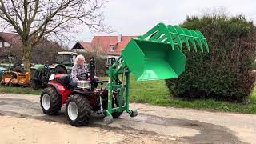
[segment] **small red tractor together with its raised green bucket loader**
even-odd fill
[[[71,88],[70,76],[57,74],[50,77],[42,91],[40,102],[44,114],[58,114],[66,104],[66,118],[73,126],[89,123],[90,115],[105,114],[106,123],[113,122],[123,111],[135,117],[136,110],[130,110],[130,74],[137,81],[178,78],[185,70],[186,58],[182,46],[190,50],[209,52],[206,38],[201,32],[178,26],[159,23],[146,34],[132,38],[122,50],[121,56],[106,70],[109,79],[99,81],[94,77],[94,58],[90,58],[90,77]],[[97,88],[98,84],[106,86]]]

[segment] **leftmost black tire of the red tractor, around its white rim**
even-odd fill
[[[47,96],[47,95],[50,97],[50,107],[49,107],[49,109],[46,109],[43,106],[43,97]],[[50,87],[47,87],[46,89],[42,90],[42,94],[41,94],[41,97],[40,97],[40,105],[41,105],[41,109],[42,109],[44,114],[55,115],[55,114],[58,114],[58,112],[62,108],[62,98],[57,93],[55,88],[50,86]]]

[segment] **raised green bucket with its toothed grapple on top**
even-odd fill
[[[182,46],[209,51],[202,33],[159,23],[148,33],[130,40],[122,58],[138,81],[178,78],[185,70],[186,57]]]

